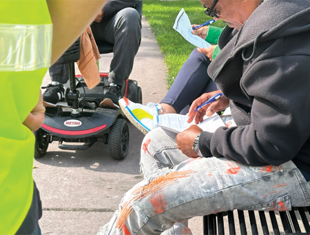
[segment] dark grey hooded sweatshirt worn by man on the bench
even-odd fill
[[[208,74],[238,127],[203,132],[204,156],[254,166],[293,160],[310,173],[309,16],[309,0],[267,0],[239,32],[225,28]]]

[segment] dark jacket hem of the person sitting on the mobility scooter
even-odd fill
[[[105,21],[105,19],[110,19],[114,16],[117,12],[120,10],[123,10],[124,8],[133,8],[136,3],[138,3],[139,0],[109,0],[107,3],[105,3],[105,6],[103,7],[103,10],[105,11],[105,18],[103,18],[102,21]]]

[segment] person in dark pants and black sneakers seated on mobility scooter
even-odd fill
[[[110,73],[107,85],[103,92],[102,100],[112,99],[118,104],[121,90],[125,88],[134,65],[134,57],[138,52],[141,40],[141,19],[133,8],[138,0],[109,0],[101,13],[92,23],[92,33],[96,40],[107,41],[114,44],[114,56],[110,64]],[[69,79],[68,65],[58,61],[50,68],[52,83],[43,93],[43,100],[49,103],[63,101],[63,84]]]

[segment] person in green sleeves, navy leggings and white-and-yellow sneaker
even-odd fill
[[[192,28],[196,26],[192,25]],[[222,31],[223,28],[206,25],[192,30],[192,33],[209,43],[216,44]],[[219,52],[218,45],[211,45],[209,48],[195,48],[180,68],[172,87],[160,103],[141,105],[124,98],[118,101],[121,109],[143,134],[147,134],[156,127],[153,117],[158,114],[187,114],[189,106],[198,97],[206,93],[213,96],[220,92],[207,74],[209,63]],[[223,110],[227,106],[228,103],[223,106]]]

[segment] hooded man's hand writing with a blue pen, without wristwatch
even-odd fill
[[[229,99],[227,99],[225,96],[221,96],[216,101],[210,103],[209,105],[205,105],[203,106],[203,108],[200,108],[200,110],[194,112],[199,105],[205,103],[205,101],[209,100],[212,96],[218,93],[220,93],[220,90],[205,93],[196,100],[194,100],[191,107],[189,108],[189,118],[187,120],[187,123],[191,123],[195,119],[195,123],[197,124],[203,121],[203,116],[212,116],[215,112],[225,110],[225,108],[229,106]]]

